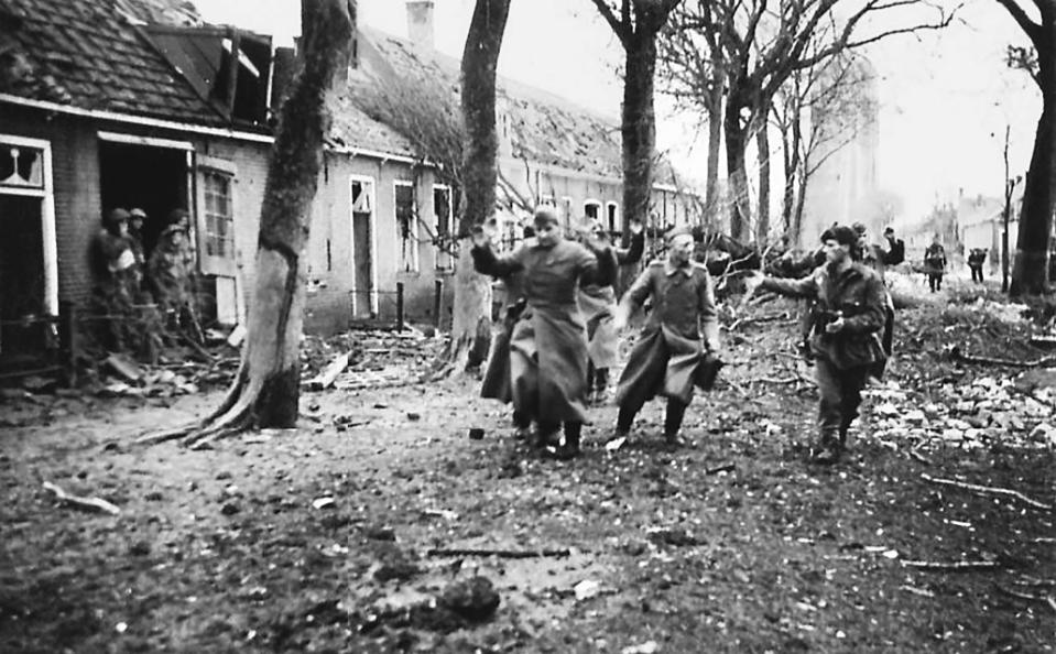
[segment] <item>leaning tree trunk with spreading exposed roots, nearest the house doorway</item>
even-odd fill
[[[330,113],[326,95],[347,65],[355,24],[348,0],[302,0],[304,58],[282,106],[268,167],[242,363],[221,405],[189,427],[152,440],[188,435],[188,444],[251,427],[293,427],[301,388],[308,216],[323,166]]]

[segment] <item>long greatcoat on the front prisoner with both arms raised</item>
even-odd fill
[[[477,272],[520,274],[525,306],[510,335],[513,406],[547,423],[585,422],[586,324],[576,295],[580,283],[611,284],[611,257],[560,240],[543,247],[527,239],[511,254],[473,248]]]

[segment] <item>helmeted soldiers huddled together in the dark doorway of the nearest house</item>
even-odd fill
[[[91,240],[91,314],[95,334],[109,350],[143,350],[156,345],[153,339],[164,330],[198,329],[188,214],[170,212],[149,257],[143,247],[146,219],[139,208],[111,209]]]

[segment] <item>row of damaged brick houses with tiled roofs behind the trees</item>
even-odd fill
[[[410,40],[357,26],[334,99],[311,217],[309,330],[392,318],[398,284],[409,318],[435,320],[435,282],[453,272],[443,237],[457,193],[358,102],[366,79],[410,70],[457,88],[458,62],[431,47],[433,2],[407,9]],[[113,207],[146,211],[148,253],[165,216],[187,209],[209,313],[241,321],[274,117],[296,65],[292,48],[207,24],[183,0],[0,0],[0,325],[87,303],[89,243]],[[507,190],[618,231],[618,122],[510,80],[499,107]],[[657,220],[689,219],[695,197],[666,182]]]

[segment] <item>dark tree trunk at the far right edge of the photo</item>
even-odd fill
[[[1053,233],[1053,184],[1056,182],[1056,35],[1047,30],[1046,47],[1038,47],[1042,116],[1034,137],[1034,153],[1026,172],[1023,211],[1015,244],[1009,294],[1044,293],[1048,288],[1048,246]]]

